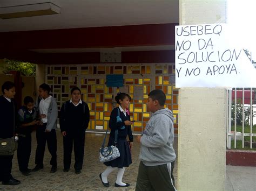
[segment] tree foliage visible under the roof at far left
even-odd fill
[[[1,67],[4,74],[9,74],[10,71],[19,71],[23,76],[36,75],[35,63],[4,59],[4,63]]]

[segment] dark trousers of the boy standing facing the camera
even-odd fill
[[[83,168],[84,161],[84,142],[85,142],[85,132],[67,132],[66,136],[63,137],[63,151],[64,158],[63,164],[65,169],[70,168],[71,156],[74,144],[74,153],[75,153],[75,165],[76,170]]]

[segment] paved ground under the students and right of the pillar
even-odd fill
[[[12,175],[14,178],[21,180],[22,183],[17,186],[4,186],[0,183],[0,190],[134,190],[138,174],[139,165],[139,144],[133,144],[132,160],[130,167],[126,168],[124,174],[124,182],[129,182],[130,187],[116,188],[114,181],[116,173],[109,176],[110,187],[103,187],[99,179],[99,173],[103,172],[105,166],[98,160],[99,147],[102,144],[103,134],[100,133],[86,133],[85,139],[85,158],[82,173],[75,174],[74,169],[68,173],[63,172],[63,148],[62,137],[60,132],[57,132],[58,139],[58,171],[50,174],[51,166],[49,165],[50,154],[46,147],[44,158],[44,169],[32,173],[30,176],[24,176],[18,171],[17,156],[13,159]],[[174,148],[177,151],[177,138],[174,140]],[[30,158],[29,168],[33,168],[35,161],[36,139],[35,132],[32,133],[32,153]],[[73,159],[72,164],[73,166]],[[233,167],[227,166],[227,180],[225,190],[256,190],[256,167]],[[177,166],[174,168],[174,177],[177,180]],[[145,190],[146,191],[146,190]]]

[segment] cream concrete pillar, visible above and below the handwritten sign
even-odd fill
[[[180,0],[180,25],[226,23],[226,0]],[[178,190],[224,190],[227,90],[179,89]]]

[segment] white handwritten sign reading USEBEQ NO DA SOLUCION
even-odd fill
[[[226,24],[175,27],[177,88],[256,87],[256,69],[231,32]]]

